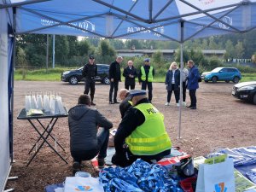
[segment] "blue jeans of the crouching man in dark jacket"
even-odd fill
[[[97,132],[98,147],[91,150],[71,151],[73,160],[81,163],[82,160],[92,160],[98,154],[98,159],[107,157],[109,130],[100,128]]]

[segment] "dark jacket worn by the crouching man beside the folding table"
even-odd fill
[[[68,111],[68,126],[70,132],[70,150],[98,149],[97,126],[110,129],[113,124],[96,108],[77,105]]]

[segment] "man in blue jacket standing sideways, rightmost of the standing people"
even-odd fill
[[[191,104],[188,106],[190,109],[196,109],[196,95],[195,92],[199,88],[198,79],[200,79],[200,73],[198,68],[195,67],[195,63],[192,60],[189,60],[187,63],[189,67],[189,76],[188,76],[188,87],[189,96]]]

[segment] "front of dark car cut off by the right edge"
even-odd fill
[[[232,89],[232,96],[256,105],[256,81],[235,84]]]

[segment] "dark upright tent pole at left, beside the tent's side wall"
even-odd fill
[[[12,110],[12,118],[11,118],[11,141],[10,141],[10,159],[11,163],[14,163],[14,97],[15,97],[15,65],[16,65],[16,8],[13,8],[13,32],[14,32],[14,44],[13,44],[13,65],[12,65],[12,98],[11,98],[11,110]]]

